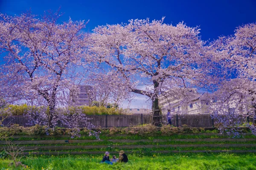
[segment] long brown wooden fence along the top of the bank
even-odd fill
[[[166,115],[163,115],[162,120],[167,124]],[[151,123],[152,115],[136,114],[136,115],[87,115],[88,122],[96,127],[130,127],[142,126]],[[72,119],[72,117],[70,117]],[[239,116],[241,125],[253,123],[252,116]],[[0,116],[2,121],[1,126],[10,126],[17,124],[24,127],[34,126],[37,120],[36,116]],[[47,119],[41,120],[47,124]],[[171,124],[173,126],[188,125],[192,127],[214,127],[215,120],[209,114],[175,114],[171,116]],[[57,122],[57,127],[67,127],[61,121]],[[79,122],[79,127],[86,127],[86,122]]]

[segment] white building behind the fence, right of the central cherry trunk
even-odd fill
[[[163,114],[166,114],[168,110],[172,114],[209,114],[210,106],[212,106],[212,110],[216,109],[219,114],[227,111],[247,114],[252,105],[250,99],[246,103],[239,103],[239,100],[234,96],[229,99],[229,102],[226,102],[226,100],[222,101],[224,99],[217,99],[214,95],[198,93],[192,89],[186,93],[186,96],[189,96],[186,99],[182,95],[160,96],[159,105]]]

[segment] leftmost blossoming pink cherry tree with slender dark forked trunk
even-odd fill
[[[6,102],[26,99],[49,107],[49,127],[55,109],[67,105],[68,89],[81,78],[87,34],[84,21],[60,22],[59,11],[38,16],[0,14],[0,93]]]

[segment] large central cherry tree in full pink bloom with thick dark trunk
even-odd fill
[[[108,66],[108,72],[122,76],[128,91],[152,100],[156,124],[163,87],[187,88],[198,83],[204,53],[199,28],[184,23],[172,26],[163,19],[98,26],[91,35],[90,47],[94,59],[104,68]],[[149,85],[153,90],[140,90],[138,85]]]

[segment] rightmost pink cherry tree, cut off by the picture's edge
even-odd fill
[[[237,106],[246,106],[247,116],[256,111],[256,24],[240,26],[235,30],[234,35],[219,37],[218,40],[210,43],[208,50],[218,63],[220,75],[223,77],[218,84],[219,90],[216,96],[221,96],[224,102],[233,102],[232,105],[235,108],[233,112],[230,112],[228,105],[223,105],[222,102],[213,110],[216,111],[218,108],[218,112],[226,112],[226,115],[231,116],[232,119],[226,122],[219,119],[224,126],[227,127],[230,122],[235,123],[232,128],[241,125],[241,122],[236,122],[236,118],[232,117],[232,115],[241,116],[239,109],[236,109]],[[255,127],[249,126],[255,133]]]

